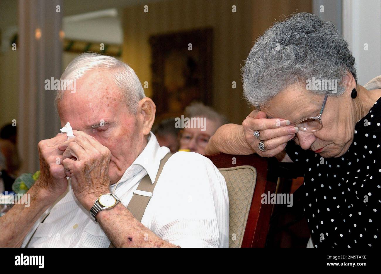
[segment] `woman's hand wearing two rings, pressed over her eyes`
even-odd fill
[[[243,120],[242,126],[248,146],[263,157],[280,154],[298,132],[298,128],[291,126],[289,120],[268,119],[266,113],[258,110],[252,111]],[[259,139],[254,136],[254,131],[259,131]],[[263,141],[265,151],[259,149],[260,141]]]

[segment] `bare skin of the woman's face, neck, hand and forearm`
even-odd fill
[[[211,137],[206,153],[258,153],[290,162],[285,147],[296,134],[295,142],[301,148],[318,151],[322,157],[340,157],[351,146],[355,124],[381,97],[381,89],[368,91],[362,86],[357,87],[349,72],[343,79],[343,85],[343,94],[328,96],[321,117],[323,127],[319,131],[304,132],[295,128],[300,119],[319,115],[325,97],[306,90],[305,84],[298,83],[282,90],[261,111],[252,111],[242,126],[227,124],[220,127]],[[351,92],[356,87],[358,95],[353,99]],[[260,132],[259,140],[253,136],[255,130]],[[264,152],[258,148],[260,140],[264,141]]]

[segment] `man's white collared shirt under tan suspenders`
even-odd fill
[[[151,132],[147,146],[127,168],[114,192],[124,206],[130,202],[142,177],[148,174],[151,181],[155,180],[160,160],[167,153],[169,149],[160,147]],[[114,188],[115,184],[111,185],[111,191]],[[175,153],[160,174],[141,222],[174,245],[228,247],[229,199],[224,177],[200,154]],[[69,184],[69,192],[40,217],[22,247],[108,247],[109,244],[106,233],[78,202]]]

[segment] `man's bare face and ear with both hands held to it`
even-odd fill
[[[66,141],[66,134],[59,134],[39,143],[40,184],[59,194],[69,176],[78,200],[92,206],[101,193],[110,192],[110,184],[123,176],[146,146],[155,105],[144,98],[133,114],[112,76],[97,69],[77,80],[75,93],[64,92],[58,113],[61,126],[70,122],[76,137]],[[57,157],[62,164],[56,164]]]

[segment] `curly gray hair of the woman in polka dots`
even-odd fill
[[[338,96],[344,93],[341,82],[347,71],[357,83],[354,64],[348,43],[333,23],[315,14],[297,13],[258,37],[243,67],[243,93],[251,105],[260,108],[287,86],[314,77],[337,79],[338,89],[337,93],[312,92]]]

